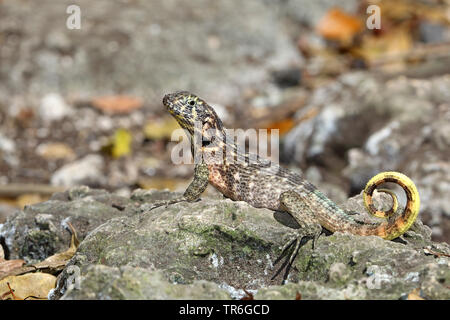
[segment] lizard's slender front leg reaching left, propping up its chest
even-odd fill
[[[168,206],[171,204],[175,204],[178,202],[194,202],[197,199],[200,198],[200,195],[205,191],[206,187],[208,186],[208,177],[209,177],[209,170],[208,166],[205,163],[200,163],[195,165],[194,169],[194,179],[187,187],[186,191],[184,192],[183,196],[172,199],[172,200],[166,200],[154,203],[148,208],[147,210],[153,210],[155,208],[161,207],[161,206]],[[146,210],[146,211],[147,211]]]

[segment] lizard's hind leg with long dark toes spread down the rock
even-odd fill
[[[300,225],[300,228],[296,230],[294,237],[286,242],[280,256],[275,260],[276,265],[287,254],[287,258],[281,267],[272,277],[272,280],[286,268],[283,283],[286,281],[292,264],[297,257],[300,248],[306,244],[309,240],[313,240],[313,249],[316,240],[322,233],[322,226],[315,217],[315,213],[308,205],[307,198],[299,195],[295,191],[286,191],[280,195],[281,209],[288,212],[295,221]],[[291,250],[293,248],[293,250]],[[288,253],[290,251],[290,253]]]

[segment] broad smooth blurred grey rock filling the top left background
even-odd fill
[[[66,28],[73,1],[23,4],[0,10],[0,81],[12,94],[120,91],[159,103],[188,89],[227,104],[242,87],[269,83],[273,68],[301,63],[275,3],[81,0],[79,30]]]

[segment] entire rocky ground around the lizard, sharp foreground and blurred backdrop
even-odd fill
[[[71,222],[82,242],[53,299],[448,299],[448,4],[376,1],[382,28],[368,30],[372,2],[0,1],[5,258],[66,250]],[[74,3],[79,30],[66,27]],[[371,176],[405,173],[420,221],[399,241],[324,236],[279,286],[288,217],[213,188],[146,212],[192,177],[171,161],[178,125],[161,103],[180,89],[228,128],[279,129],[281,164],[362,214]]]

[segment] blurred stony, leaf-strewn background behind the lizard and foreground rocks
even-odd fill
[[[449,0],[0,0],[0,223],[74,185],[184,191],[162,97],[189,90],[338,203],[405,173],[450,242],[449,25]]]

